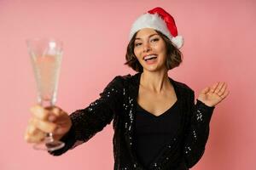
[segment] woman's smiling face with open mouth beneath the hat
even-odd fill
[[[143,66],[143,70],[166,69],[166,42],[154,29],[144,28],[137,32],[134,54]]]

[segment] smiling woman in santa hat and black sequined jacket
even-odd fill
[[[201,159],[207,144],[213,109],[228,94],[227,84],[194,91],[167,72],[182,62],[172,16],[154,8],[133,24],[126,65],[138,73],[117,76],[88,107],[70,116],[55,106],[31,108],[25,139],[38,143],[54,133],[65,147],[59,156],[88,141],[113,120],[114,169],[189,169]]]

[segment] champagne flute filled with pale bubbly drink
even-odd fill
[[[43,107],[55,105],[58,80],[61,70],[62,42],[54,38],[33,38],[26,40],[37,83],[38,104]],[[65,144],[47,133],[44,142],[34,144],[36,150],[58,150]]]

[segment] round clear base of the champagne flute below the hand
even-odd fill
[[[35,150],[48,150],[48,151],[54,151],[59,150],[65,146],[64,142],[61,142],[59,140],[48,140],[45,139],[44,142],[39,144],[34,144],[33,148]]]

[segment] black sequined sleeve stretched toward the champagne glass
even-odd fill
[[[113,116],[119,112],[122,105],[122,95],[120,94],[120,89],[123,89],[122,86],[122,77],[114,77],[113,81],[104,88],[99,99],[84,109],[74,111],[70,115],[72,127],[61,139],[65,142],[65,147],[60,150],[49,151],[49,153],[59,156],[102,131],[113,120]]]

